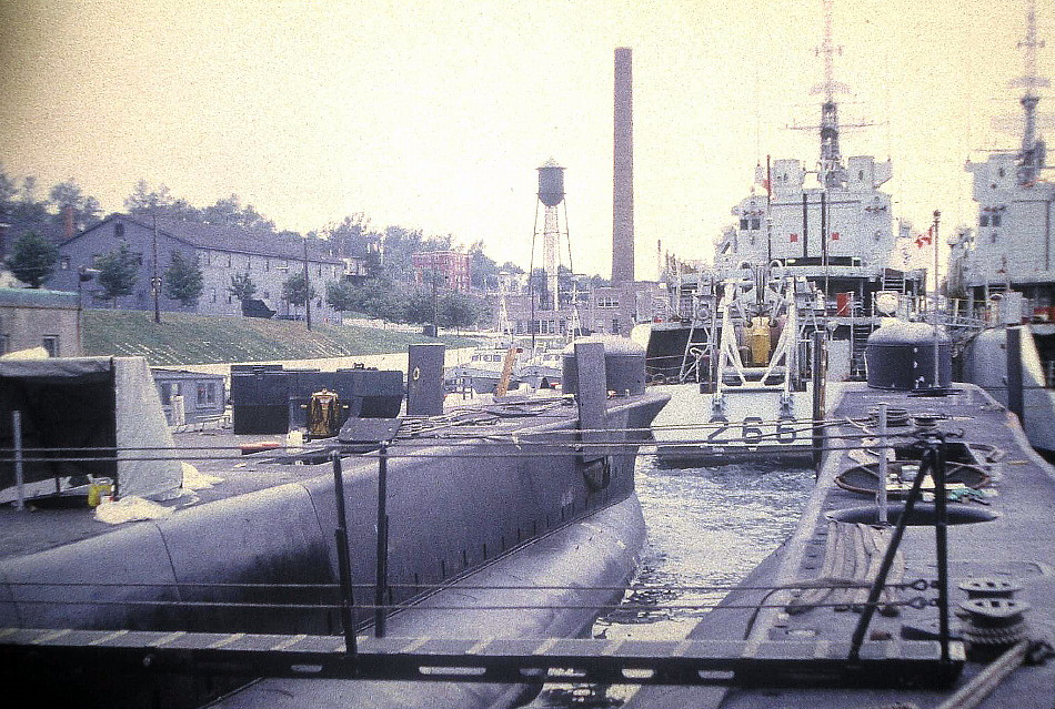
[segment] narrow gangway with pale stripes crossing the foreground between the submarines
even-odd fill
[[[0,677],[70,667],[174,675],[524,683],[941,687],[963,666],[936,640],[762,642],[574,638],[378,638],[134,630],[0,630]],[[958,644],[956,644],[958,647]]]

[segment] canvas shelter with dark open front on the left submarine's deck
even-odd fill
[[[4,500],[14,497],[13,456],[8,452],[14,444],[16,411],[29,459],[23,465],[28,496],[77,487],[89,475],[114,479],[121,496],[158,498],[180,487],[179,460],[143,459],[164,457],[164,450],[150,448],[174,448],[174,442],[142,357],[0,361],[0,448],[6,452],[0,499]]]

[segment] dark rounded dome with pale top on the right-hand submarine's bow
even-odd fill
[[[891,321],[868,336],[865,361],[868,386],[912,391],[946,387],[952,382],[953,346],[938,330],[938,381],[934,382],[934,327],[927,323]]]

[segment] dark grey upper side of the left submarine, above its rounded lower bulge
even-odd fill
[[[656,395],[622,399],[610,405],[606,425],[646,429],[665,401]],[[552,411],[532,423],[500,422],[488,433],[515,431],[521,440],[573,439],[574,409]],[[386,602],[424,598],[431,587],[512,558],[545,535],[633,495],[632,447],[609,456],[603,475],[596,464],[585,465],[566,448],[537,455],[530,450],[472,437],[443,446],[393,447]],[[350,457],[343,466],[352,579],[365,586],[356,590],[362,602],[374,597],[378,462],[375,456]],[[254,475],[295,480],[261,484],[239,494],[239,485]],[[0,627],[340,632],[339,597],[332,588],[338,579],[338,519],[331,466],[257,464],[232,473],[230,480],[227,493],[219,495],[234,496],[179,510],[168,519],[97,529],[89,538],[9,554],[0,560]],[[16,514],[4,510],[0,521],[17,524],[9,513]],[[630,556],[635,553],[631,549]],[[616,564],[620,569],[625,565],[625,559]],[[218,583],[234,586],[208,586]],[[569,583],[597,585],[599,579]],[[238,586],[245,584],[259,586]],[[328,587],[305,586],[311,584]],[[257,606],[233,608],[213,605],[217,601]],[[356,620],[366,624],[371,615],[361,611]],[[579,616],[582,624],[592,620],[590,612]],[[165,707],[195,706],[218,687],[204,678],[158,682],[132,677],[121,678],[121,691],[110,693],[108,682],[96,678],[77,682],[76,673],[61,677],[51,686],[69,688],[81,706],[118,706],[118,700],[142,706],[151,698]],[[40,679],[46,682],[47,672]]]

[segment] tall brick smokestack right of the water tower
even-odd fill
[[[633,55],[615,50],[615,140],[612,173],[612,282],[634,280],[634,95]]]

